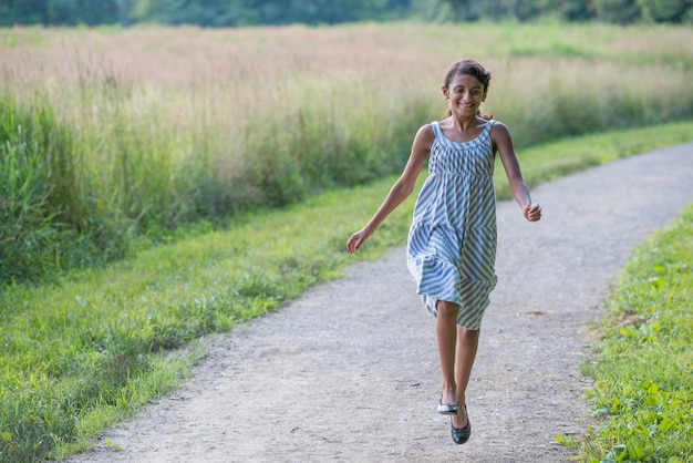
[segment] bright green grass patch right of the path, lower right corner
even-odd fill
[[[693,461],[693,205],[637,249],[599,332],[580,461]]]

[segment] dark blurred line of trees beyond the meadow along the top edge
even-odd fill
[[[693,23],[691,0],[0,0],[0,25],[244,27],[356,21]]]

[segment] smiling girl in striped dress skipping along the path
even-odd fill
[[[436,317],[443,383],[438,413],[451,415],[453,441],[464,444],[472,425],[465,392],[476,357],[482,317],[496,286],[496,197],[493,174],[500,155],[513,195],[529,222],[541,218],[520,172],[508,128],[479,106],[490,73],[459,60],[443,80],[447,117],[418,130],[404,172],[382,205],[346,243],[355,253],[406,197],[426,160],[428,177],[418,194],[407,240],[407,265],[416,294]],[[459,405],[458,405],[459,404]]]

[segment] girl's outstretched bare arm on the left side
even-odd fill
[[[361,230],[351,235],[346,241],[346,249],[350,254],[354,254],[373,235],[380,224],[412,194],[416,178],[418,178],[418,174],[426,163],[434,140],[435,134],[431,124],[424,125],[416,132],[414,143],[412,144],[412,153],[402,175],[392,185],[390,193],[387,193],[383,204],[371,220]]]

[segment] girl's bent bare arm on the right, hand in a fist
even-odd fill
[[[504,123],[496,122],[492,127],[490,138],[494,144],[494,150],[500,155],[500,162],[508,176],[513,196],[523,208],[523,215],[529,222],[541,219],[541,206],[531,202],[529,188],[527,188],[527,184],[523,178],[523,172],[520,171],[517,156],[515,155],[510,131]]]

